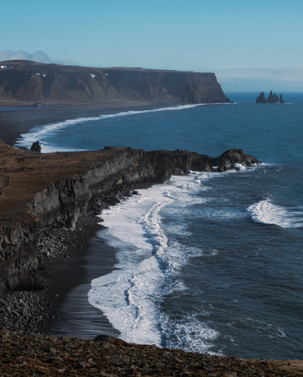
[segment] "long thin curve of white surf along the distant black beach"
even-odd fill
[[[213,104],[216,104],[216,103],[213,103]],[[111,119],[111,118],[117,118],[117,117],[127,116],[127,115],[136,115],[136,114],[152,113],[152,112],[167,111],[167,110],[186,110],[186,109],[191,109],[193,107],[206,106],[206,105],[210,105],[210,104],[200,103],[200,104],[191,104],[191,105],[178,105],[178,106],[163,107],[160,109],[152,109],[152,110],[125,111],[125,112],[120,112],[120,113],[99,115],[99,116],[88,117],[88,118],[71,119],[71,120],[66,120],[66,121],[58,122],[58,123],[49,123],[49,124],[46,124],[45,126],[34,127],[30,129],[29,132],[22,134],[21,135],[22,139],[18,140],[15,145],[30,148],[33,142],[39,140],[41,146],[43,146],[42,148],[43,153],[49,153],[53,151],[73,152],[80,149],[75,149],[72,147],[62,148],[62,147],[49,145],[47,144],[47,141],[45,140],[46,136],[50,133],[56,133],[64,127],[70,127],[70,126],[73,126],[74,124],[83,123],[87,121]],[[85,150],[85,149],[81,149],[81,150]]]

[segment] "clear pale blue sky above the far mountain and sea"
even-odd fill
[[[276,69],[268,83],[288,80],[280,68],[303,69],[302,0],[14,0],[1,14],[0,58],[21,50],[83,66],[221,70],[230,87],[256,81],[256,69],[261,81]]]

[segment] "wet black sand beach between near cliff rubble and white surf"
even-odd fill
[[[82,248],[67,251],[68,258],[54,257],[40,276],[47,288],[41,292],[52,304],[54,319],[46,319],[38,330],[45,334],[92,339],[98,334],[119,336],[102,312],[88,302],[91,280],[115,269],[116,250],[105,244],[102,225],[90,229]],[[45,266],[45,265],[43,265]],[[39,267],[38,267],[39,268]]]

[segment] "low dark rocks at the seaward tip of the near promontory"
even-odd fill
[[[192,156],[191,170],[195,172],[226,172],[227,170],[239,170],[240,166],[252,166],[260,164],[255,157],[245,155],[242,149],[228,149],[216,158],[208,155],[200,155],[190,152]]]

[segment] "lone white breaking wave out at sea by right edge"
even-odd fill
[[[303,226],[303,212],[297,209],[281,207],[265,199],[252,204],[247,208],[247,212],[254,222],[276,224],[283,228],[300,228]]]

